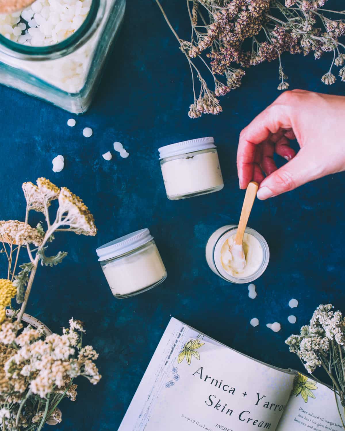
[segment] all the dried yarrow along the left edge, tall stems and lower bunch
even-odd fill
[[[82,322],[71,319],[63,335],[52,334],[46,327],[23,329],[22,318],[38,264],[57,265],[67,255],[59,252],[47,256],[47,244],[59,231],[76,234],[96,234],[94,218],[83,201],[66,187],[56,187],[46,178],[37,185],[22,185],[26,200],[25,221],[0,221],[2,252],[8,260],[7,278],[0,279],[0,430],[40,431],[47,422],[61,422],[57,408],[64,397],[75,400],[73,379],[85,376],[96,384],[100,375],[94,364],[98,354],[91,346],[82,347]],[[49,208],[53,200],[58,206],[54,219]],[[44,215],[46,228],[40,222],[29,225],[30,211]],[[51,221],[53,220],[53,221]],[[21,250],[26,250],[29,262],[20,265]],[[11,306],[16,296],[20,310]],[[6,318],[6,307],[9,317]],[[31,318],[33,319],[33,318]],[[30,320],[30,319],[29,319]],[[34,320],[34,319],[33,319]]]

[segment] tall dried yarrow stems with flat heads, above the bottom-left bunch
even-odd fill
[[[9,263],[7,280],[13,281],[13,286],[16,288],[17,303],[22,303],[18,313],[18,322],[21,321],[28,302],[38,263],[41,262],[41,265],[46,266],[57,265],[67,255],[66,252],[59,252],[55,256],[46,255],[47,243],[54,239],[54,233],[71,231],[76,234],[92,236],[97,233],[92,214],[78,196],[66,187],[60,189],[44,177],[38,178],[36,183],[37,185],[25,182],[22,185],[26,200],[25,222],[19,220],[0,221],[2,251],[6,253]],[[51,223],[49,207],[53,200],[58,200],[59,206],[56,210],[55,219]],[[28,219],[31,210],[44,214],[47,223],[46,230],[44,230],[42,223],[38,223],[36,228],[29,225]],[[32,248],[32,245],[35,248]],[[30,262],[20,265],[21,271],[16,274],[19,252],[22,247],[26,247]],[[4,317],[1,313],[0,301],[0,321]]]

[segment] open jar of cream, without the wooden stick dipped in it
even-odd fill
[[[212,271],[231,283],[250,283],[263,274],[270,260],[270,250],[264,237],[254,229],[246,228],[243,238],[245,268],[237,272],[232,267],[231,246],[235,240],[237,225],[217,229],[206,244],[206,260]]]

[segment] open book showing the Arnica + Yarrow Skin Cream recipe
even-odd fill
[[[119,431],[257,428],[343,429],[329,387],[242,355],[172,318]]]

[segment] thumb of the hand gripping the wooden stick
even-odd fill
[[[265,178],[257,191],[257,198],[265,200],[273,196],[294,190],[302,184],[321,176],[316,163],[302,148],[290,162]]]

